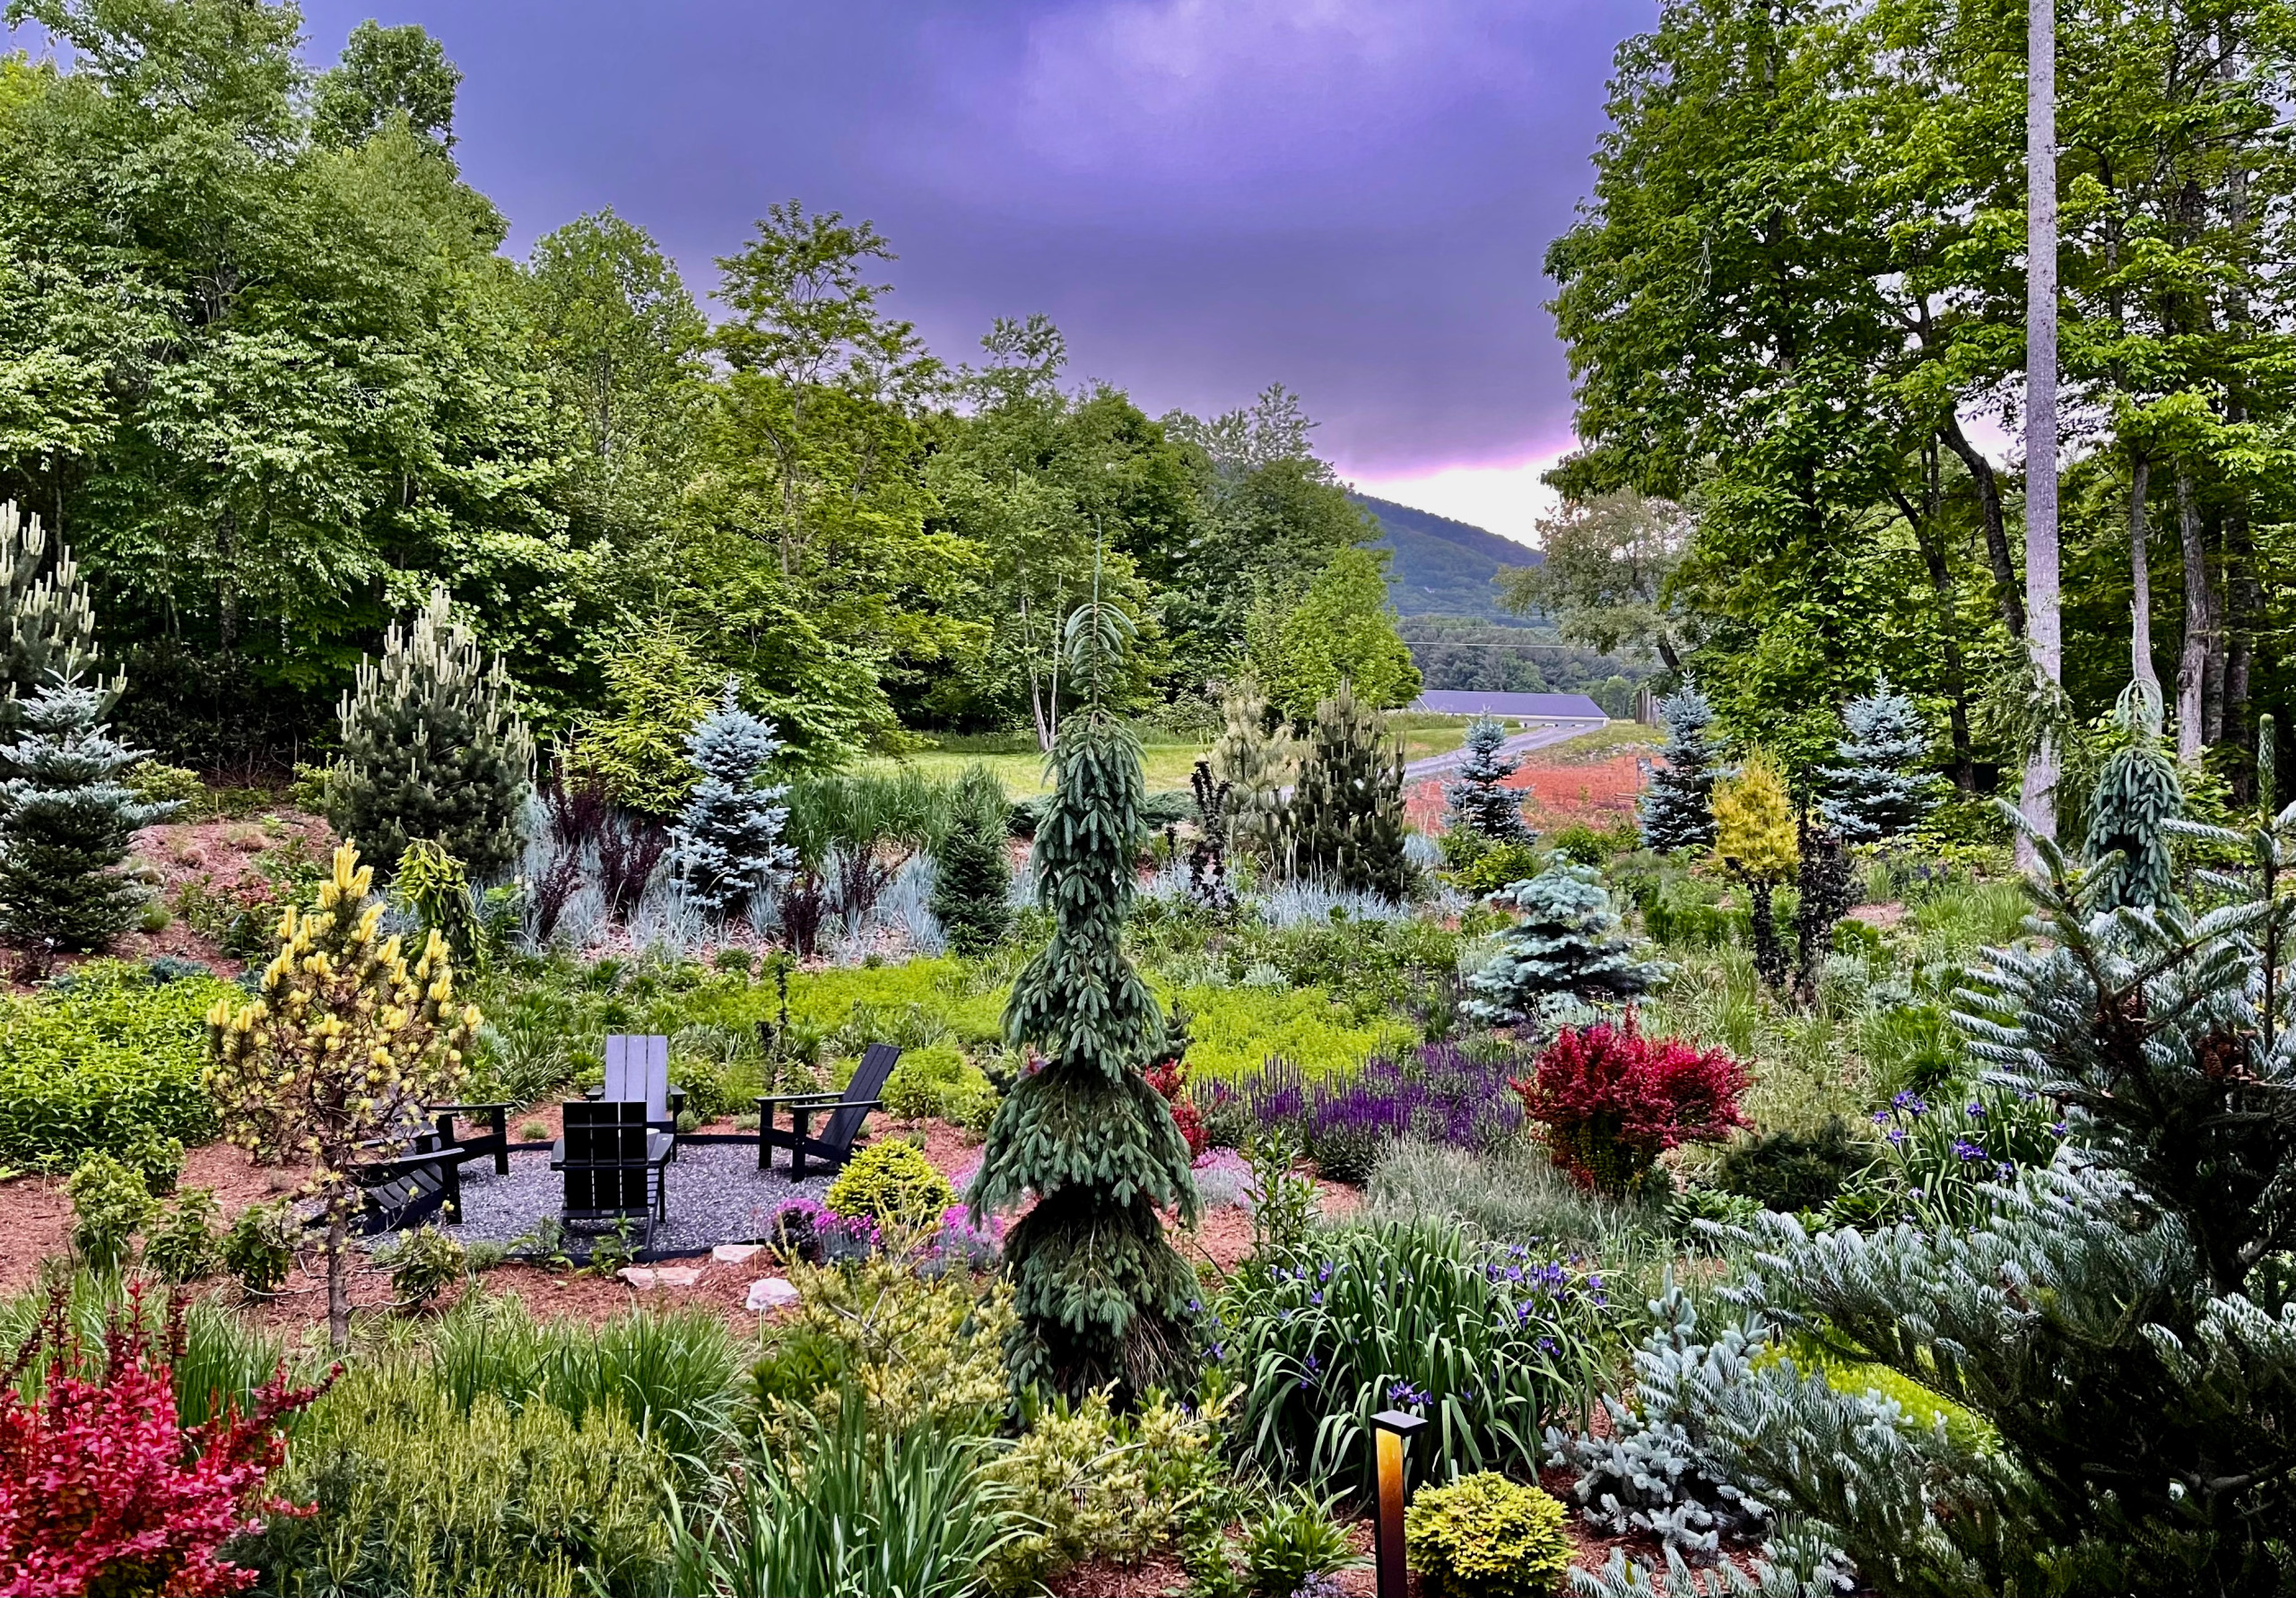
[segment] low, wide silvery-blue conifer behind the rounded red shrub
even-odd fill
[[[1495,895],[1522,914],[1499,955],[1467,978],[1467,1015],[1492,1026],[1538,1019],[1548,999],[1623,1003],[1665,973],[1635,960],[1600,877],[1584,866],[1550,866]]]

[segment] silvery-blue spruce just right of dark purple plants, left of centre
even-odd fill
[[[739,916],[794,861],[781,840],[788,788],[758,781],[778,753],[774,723],[742,709],[739,684],[728,677],[716,709],[687,737],[687,760],[700,781],[670,829],[687,902],[707,916]]]

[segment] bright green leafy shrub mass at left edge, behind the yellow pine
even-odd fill
[[[0,1164],[71,1166],[94,1148],[126,1153],[147,1132],[214,1139],[200,1086],[207,1010],[236,992],[92,960],[67,987],[0,999]]]

